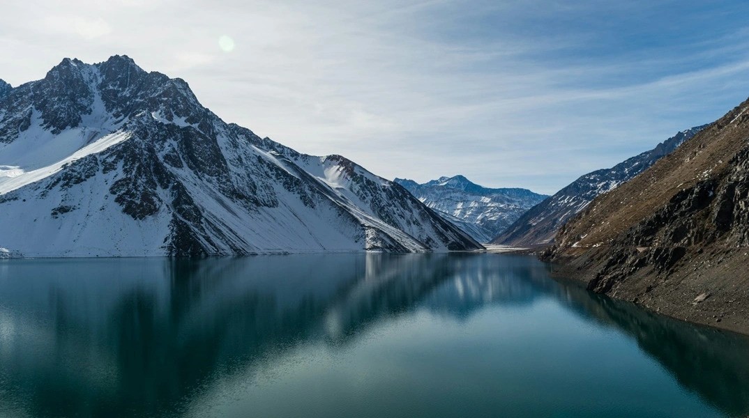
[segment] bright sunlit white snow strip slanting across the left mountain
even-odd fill
[[[82,159],[85,156],[90,156],[91,154],[101,153],[103,150],[127,140],[127,138],[130,138],[129,132],[115,132],[114,134],[99,138],[93,144],[88,144],[73,153],[71,156],[61,159],[51,165],[47,165],[46,167],[37,168],[36,170],[31,171],[22,171],[20,167],[15,167],[14,170],[7,170],[7,172],[13,173],[13,176],[0,176],[0,195],[52,176],[52,174],[61,170],[64,165]],[[0,171],[0,174],[2,173],[4,172]]]

